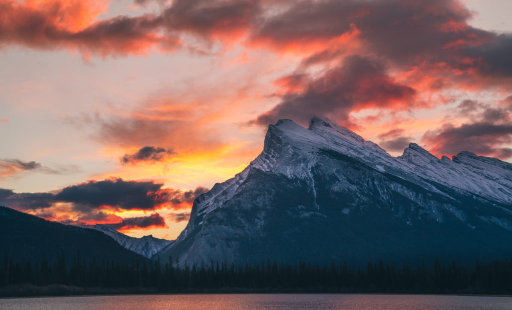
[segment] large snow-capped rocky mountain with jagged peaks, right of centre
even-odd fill
[[[314,118],[270,125],[262,153],[196,198],[186,228],[158,253],[296,262],[512,256],[512,164],[417,144],[392,157],[347,128]],[[154,258],[156,255],[154,256]]]

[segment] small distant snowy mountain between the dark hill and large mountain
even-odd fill
[[[105,235],[112,237],[124,248],[147,258],[150,258],[154,254],[158,253],[163,247],[173,242],[166,239],[155,238],[152,235],[143,236],[142,238],[130,237],[105,225],[97,224],[91,226],[91,228],[101,231]]]

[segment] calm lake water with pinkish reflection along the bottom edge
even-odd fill
[[[328,294],[87,296],[0,299],[0,309],[510,310],[512,297]]]

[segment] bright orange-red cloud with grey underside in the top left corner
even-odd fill
[[[157,34],[158,16],[118,16],[95,21],[102,12],[96,3],[2,0],[0,43],[45,50],[78,50],[86,57],[140,54],[164,43],[169,47],[180,45],[172,34]]]

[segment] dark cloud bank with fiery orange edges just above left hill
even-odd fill
[[[207,191],[202,186],[183,191],[163,188],[163,184],[153,181],[110,179],[68,186],[56,193],[15,193],[0,188],[0,205],[64,224],[113,224],[116,229],[129,230],[165,227],[165,222],[157,213],[132,218],[123,218],[117,213],[127,210],[187,210],[197,196]]]

